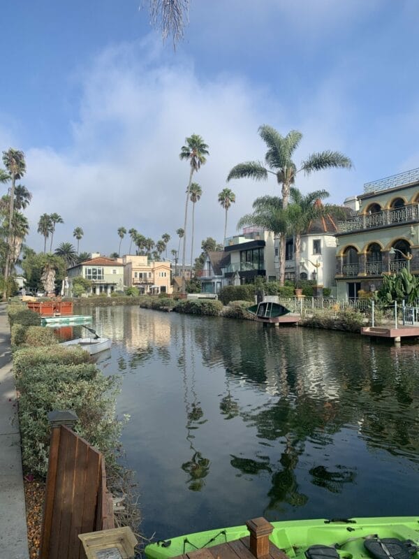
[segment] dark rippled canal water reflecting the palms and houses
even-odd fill
[[[122,376],[147,537],[418,514],[419,345],[138,307],[93,315],[113,340],[98,365]]]

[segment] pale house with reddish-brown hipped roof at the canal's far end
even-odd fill
[[[68,294],[73,293],[73,279],[84,277],[91,280],[91,290],[89,294],[100,295],[106,293],[110,296],[114,291],[124,291],[124,266],[120,261],[96,256],[72,266],[67,270]]]

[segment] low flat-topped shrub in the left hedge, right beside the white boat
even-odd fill
[[[79,365],[91,363],[91,357],[81,347],[65,347],[60,344],[44,347],[24,347],[13,354],[13,372],[15,377],[25,370],[38,366],[57,363],[59,365]]]

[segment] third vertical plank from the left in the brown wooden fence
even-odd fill
[[[76,436],[76,435],[75,435]],[[77,451],[75,455],[75,479],[73,489],[73,510],[71,515],[70,528],[70,559],[78,559],[82,542],[78,535],[82,533],[82,518],[84,506],[84,492],[86,491],[87,480],[87,454],[89,445],[78,437]]]

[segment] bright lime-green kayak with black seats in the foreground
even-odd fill
[[[378,546],[385,549],[383,556],[386,559],[419,559],[416,551],[416,545],[419,545],[419,516],[284,521],[272,522],[272,525],[274,530],[269,537],[270,541],[289,558],[316,558],[318,554],[311,555],[309,551],[311,546],[315,546],[315,551],[318,551],[317,546],[331,546],[332,552],[339,559],[381,559],[379,555],[369,553],[366,549],[368,545],[365,545],[365,542],[378,538]],[[167,559],[247,536],[249,530],[245,525],[208,530],[150,544],[145,548],[145,555],[149,559]],[[402,549],[401,554],[393,553],[394,548],[389,544],[381,544],[383,539],[390,542],[386,538],[399,539],[401,544],[404,542],[402,545],[409,540],[411,544],[406,544],[406,553],[406,548]],[[326,552],[326,556],[328,554]]]

